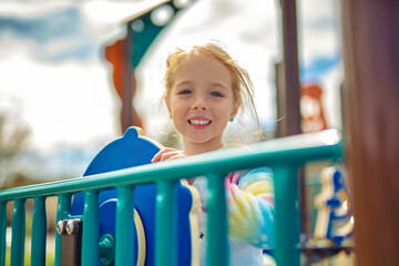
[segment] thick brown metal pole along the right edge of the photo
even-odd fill
[[[340,2],[356,263],[399,265],[399,2]]]

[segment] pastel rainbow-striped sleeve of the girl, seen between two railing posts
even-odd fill
[[[263,249],[275,247],[273,173],[234,172],[226,178],[229,235]]]

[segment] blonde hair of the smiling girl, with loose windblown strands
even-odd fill
[[[177,49],[171,53],[166,59],[166,72],[165,72],[165,92],[164,98],[168,98],[174,84],[174,75],[177,69],[186,62],[191,57],[205,53],[223,63],[232,74],[233,80],[233,94],[234,100],[238,101],[241,108],[243,103],[250,104],[250,113],[255,116],[257,130],[259,133],[259,119],[256,112],[254,103],[254,86],[250,81],[249,74],[246,70],[241,68],[238,63],[232,59],[232,57],[219,45],[208,42],[203,45],[194,45],[191,50],[185,51]]]

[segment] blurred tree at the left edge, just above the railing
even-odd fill
[[[30,132],[16,114],[0,111],[0,188],[10,186],[21,176],[16,161],[25,147]]]

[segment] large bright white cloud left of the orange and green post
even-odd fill
[[[101,64],[45,64],[23,52],[0,62],[0,104],[17,101],[35,149],[116,135],[115,101]]]

